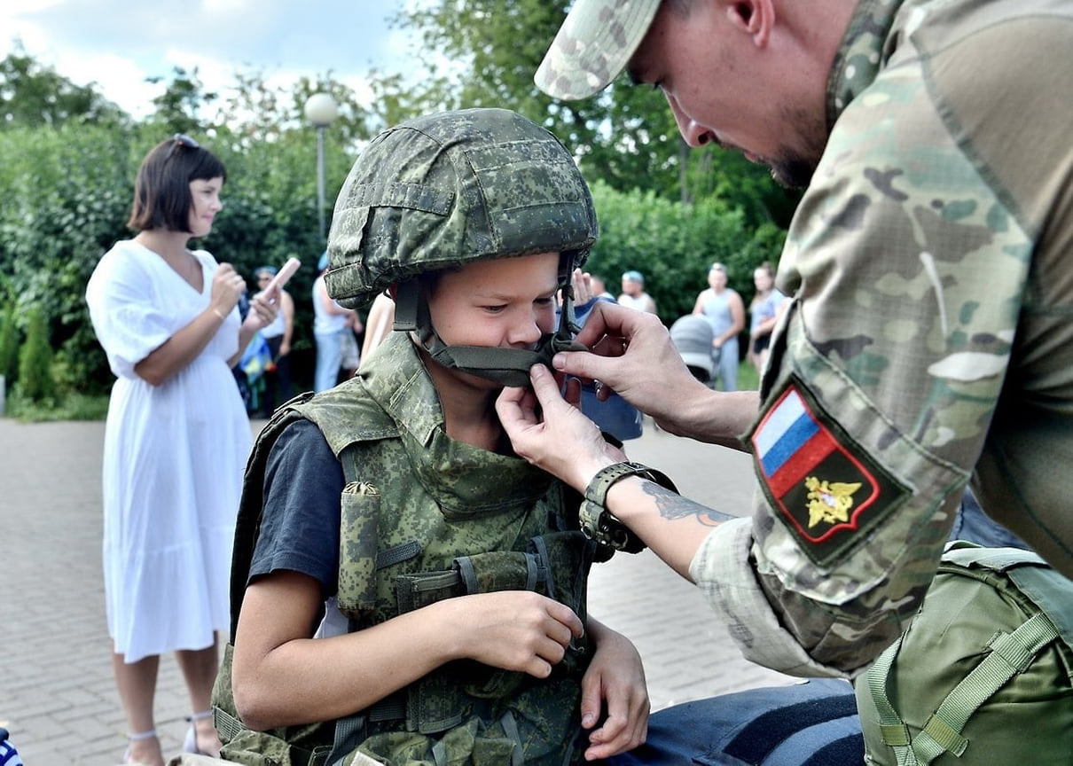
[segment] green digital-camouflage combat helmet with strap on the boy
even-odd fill
[[[441,364],[510,385],[572,338],[570,275],[596,242],[596,209],[567,148],[506,109],[428,115],[391,128],[354,163],[328,236],[328,293],[349,308],[397,285],[395,329]],[[447,347],[416,277],[472,261],[561,253],[559,329],[536,351]]]

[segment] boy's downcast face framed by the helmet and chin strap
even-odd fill
[[[428,296],[447,345],[534,349],[555,330],[559,253],[476,261],[444,272]]]

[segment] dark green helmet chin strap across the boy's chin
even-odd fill
[[[447,345],[432,327],[428,305],[422,299],[417,280],[399,284],[395,295],[397,330],[414,330],[422,348],[432,359],[452,369],[485,378],[509,386],[528,386],[529,369],[536,364],[552,367],[552,357],[560,351],[588,351],[574,340],[579,329],[574,318],[574,291],[570,283],[571,267],[562,289],[559,326],[542,337],[534,350],[506,349],[487,345]],[[560,280],[561,281],[561,280]]]

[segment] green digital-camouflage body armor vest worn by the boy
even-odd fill
[[[282,429],[302,417],[318,425],[343,467],[337,599],[351,631],[497,590],[543,593],[585,620],[594,544],[577,530],[577,496],[521,459],[450,439],[409,340],[394,334],[388,344],[396,348],[385,348],[362,377],[282,408],[259,438],[236,530],[232,644],[265,460]],[[406,423],[396,419],[400,413]],[[564,507],[573,510],[569,521]],[[456,661],[347,719],[259,733],[238,721],[229,644],[214,692],[222,756],[261,766],[370,763],[358,753],[389,766],[579,762],[580,679],[590,653],[587,637],[573,642],[543,680]]]

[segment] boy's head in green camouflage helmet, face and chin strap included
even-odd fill
[[[588,187],[548,131],[505,109],[439,113],[384,131],[354,163],[326,282],[350,308],[389,290],[395,329],[436,362],[524,385],[570,342],[572,311],[553,334],[555,293],[597,234]]]

